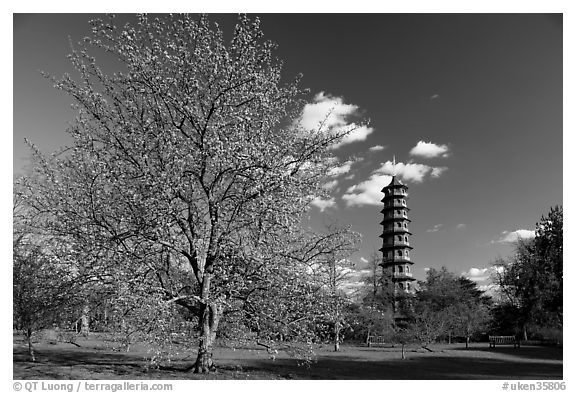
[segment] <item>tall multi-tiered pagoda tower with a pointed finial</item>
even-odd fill
[[[396,166],[394,160],[394,167]],[[388,270],[393,285],[394,311],[398,307],[397,299],[402,296],[410,296],[415,293],[416,279],[412,277],[412,265],[410,260],[410,235],[408,224],[408,211],[406,200],[408,199],[408,187],[396,177],[394,171],[390,184],[382,189],[384,198],[382,202],[384,215],[382,222],[382,267]]]

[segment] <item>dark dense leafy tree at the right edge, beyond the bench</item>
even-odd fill
[[[562,329],[563,210],[551,208],[531,241],[519,241],[513,256],[498,260],[497,281],[507,308],[528,338],[528,327]]]

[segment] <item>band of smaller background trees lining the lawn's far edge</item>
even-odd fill
[[[70,328],[78,320],[88,325],[87,305],[92,316],[99,311],[101,331],[113,333],[113,339],[125,349],[133,342],[147,342],[150,359],[156,363],[178,354],[175,342],[193,345],[198,340],[195,330],[199,318],[194,308],[190,303],[178,304],[180,299],[167,300],[163,296],[166,283],[158,287],[162,280],[169,280],[167,267],[162,270],[166,276],[159,275],[158,270],[151,277],[116,271],[121,280],[97,280],[92,270],[81,274],[82,265],[72,257],[77,255],[69,245],[39,242],[38,236],[27,233],[26,228],[34,226],[23,220],[22,209],[18,204],[16,207],[15,218],[20,221],[16,221],[14,238],[15,322],[28,339],[32,358],[33,331],[51,324]],[[474,336],[489,332],[522,334],[524,339],[529,338],[530,332],[531,338],[561,341],[561,208],[552,209],[538,228],[534,241],[519,243],[509,262],[499,261],[496,265],[501,296],[495,298],[445,267],[430,269],[414,296],[400,297],[394,294],[387,270],[379,266],[378,254],[371,258],[372,274],[365,278],[361,296],[352,298],[343,289],[350,271],[350,266],[343,264],[343,256],[356,243],[339,238],[338,246],[325,248],[324,257],[314,259],[316,262],[308,264],[305,271],[276,271],[269,276],[274,281],[268,287],[251,287],[249,296],[223,313],[219,336],[233,345],[256,343],[269,352],[288,350],[305,359],[311,356],[312,343],[332,342],[334,349],[339,350],[344,339],[359,342],[369,335],[385,336],[389,342],[402,345],[402,349],[410,343],[427,348],[439,339],[451,342],[455,338],[464,339],[468,348]],[[331,228],[325,236],[335,236],[335,232]],[[538,259],[543,255],[543,245],[547,258]],[[317,252],[317,247],[308,251]],[[531,258],[518,257],[529,252]],[[170,264],[168,256],[164,260],[166,266]],[[246,271],[249,265],[238,261],[229,263],[235,267],[228,274],[249,286],[257,272]],[[117,265],[108,262],[107,266]],[[542,271],[552,272],[552,277],[542,275]],[[230,290],[242,287],[235,285]],[[258,285],[264,284],[259,281]],[[154,288],[159,292],[153,292]],[[395,319],[398,313],[403,315],[401,320]],[[308,344],[304,345],[307,350],[302,343]]]

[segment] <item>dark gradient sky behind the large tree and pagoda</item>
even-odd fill
[[[370,120],[364,140],[335,150],[341,163],[355,162],[334,178],[333,203],[311,212],[314,224],[338,219],[362,234],[352,257],[360,267],[380,247],[381,215],[380,206],[362,202],[359,193],[386,185],[375,176],[393,155],[400,165],[444,168],[437,177],[403,178],[410,187],[417,278],[425,268],[446,265],[485,284],[485,269],[511,251],[503,239],[533,230],[542,214],[562,204],[561,16],[259,16],[265,37],[278,44],[286,78],[302,73],[311,103],[323,92],[353,105],[350,116]],[[38,70],[72,72],[68,36],[79,41],[92,18],[14,17],[15,174],[27,165],[24,137],[46,151],[66,144],[71,100]],[[227,34],[235,18],[216,16]],[[420,141],[444,147],[445,154],[410,154]],[[383,149],[370,150],[377,145]]]

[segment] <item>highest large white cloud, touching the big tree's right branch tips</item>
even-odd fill
[[[374,129],[365,125],[357,125],[350,117],[358,116],[358,106],[344,103],[342,97],[334,97],[324,92],[314,96],[312,103],[304,106],[300,125],[306,130],[323,132],[341,132],[352,130],[340,143],[332,146],[334,149],[353,142],[364,141]]]

